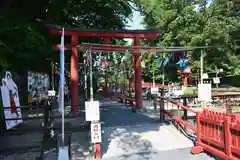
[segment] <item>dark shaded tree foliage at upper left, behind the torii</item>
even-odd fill
[[[60,37],[50,35],[46,24],[124,28],[132,9],[127,0],[3,0],[0,15],[1,69],[47,71],[49,59],[59,56],[51,45]]]

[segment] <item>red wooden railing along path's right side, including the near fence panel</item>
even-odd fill
[[[160,120],[164,121],[165,116],[191,129],[196,134],[196,145],[191,149],[191,153],[199,154],[201,152],[209,152],[226,160],[240,160],[240,115],[228,115],[222,112],[204,109],[203,111],[195,111],[194,109],[184,106],[182,103],[159,96],[160,104]],[[134,107],[134,99],[121,95],[119,97],[121,103],[129,104]],[[177,114],[171,113],[164,107],[164,101],[172,103],[176,106]],[[179,111],[184,111],[181,116]],[[196,113],[196,123],[192,125],[186,118],[187,112]]]

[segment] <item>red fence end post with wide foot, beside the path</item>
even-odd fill
[[[199,154],[203,152],[203,147],[201,146],[201,123],[200,123],[200,112],[196,113],[196,144],[191,149],[192,154]]]

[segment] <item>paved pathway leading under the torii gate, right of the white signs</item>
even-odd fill
[[[150,112],[132,113],[110,101],[101,105],[102,160],[212,159],[204,153],[191,155],[193,142]]]

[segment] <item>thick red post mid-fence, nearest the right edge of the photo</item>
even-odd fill
[[[225,154],[230,158],[232,157],[232,151],[231,151],[231,146],[232,146],[232,136],[231,136],[231,131],[230,131],[230,117],[226,116],[224,118],[224,149],[225,149]]]

